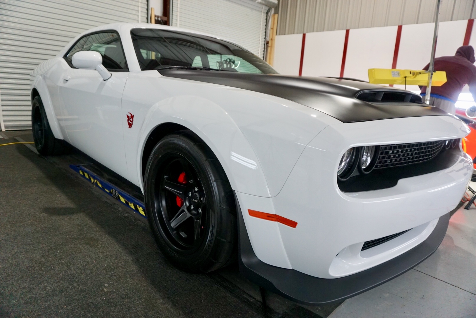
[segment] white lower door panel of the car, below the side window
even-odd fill
[[[102,80],[96,70],[69,69],[59,85],[61,122],[70,143],[123,176],[127,165],[121,98],[128,75],[112,72],[109,80]]]

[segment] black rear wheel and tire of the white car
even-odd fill
[[[40,96],[31,102],[31,129],[36,150],[40,155],[58,155],[65,151],[64,141],[56,139],[51,131]]]

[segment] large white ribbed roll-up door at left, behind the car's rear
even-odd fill
[[[0,0],[0,124],[30,129],[29,74],[76,35],[113,22],[147,22],[147,0]]]

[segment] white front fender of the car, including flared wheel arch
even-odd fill
[[[286,99],[168,78],[154,70],[129,73],[122,106],[140,122],[140,131],[135,126],[124,130],[128,165],[135,171],[130,177],[139,186],[147,138],[160,124],[173,122],[207,143],[234,190],[260,197],[278,195],[306,144],[339,122]],[[134,158],[128,149],[137,149]]]

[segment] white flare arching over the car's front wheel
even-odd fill
[[[232,189],[260,197],[271,196],[258,157],[234,120],[218,104],[197,96],[164,99],[149,109],[139,133],[137,173],[140,177],[146,140],[160,123],[166,122],[187,127],[208,145],[225,170]]]

